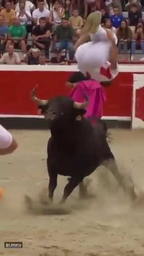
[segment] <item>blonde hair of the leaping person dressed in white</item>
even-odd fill
[[[84,24],[84,27],[81,30],[80,35],[84,35],[85,33],[91,33],[94,34],[101,23],[102,14],[97,11],[94,13],[90,13],[89,16],[86,19],[86,22]]]

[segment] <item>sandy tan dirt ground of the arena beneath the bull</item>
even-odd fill
[[[100,167],[87,200],[78,189],[59,206],[67,180],[58,177],[54,205],[44,206],[48,175],[48,131],[12,131],[19,149],[1,156],[0,255],[26,256],[144,256],[144,131],[111,130],[111,148],[123,173],[130,173],[139,198],[131,203],[113,176]],[[29,211],[24,201],[33,201]],[[22,249],[5,249],[4,241],[22,241]]]

